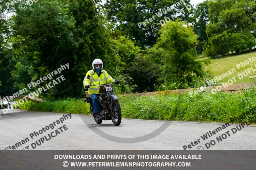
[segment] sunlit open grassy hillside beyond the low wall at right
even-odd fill
[[[228,79],[236,76],[236,83],[235,84],[249,83],[249,82],[252,81],[249,78],[249,76],[256,75],[256,71],[255,72],[251,71],[251,73],[248,76],[242,78],[241,80],[239,80],[237,75],[239,73],[242,73],[244,70],[252,67],[254,64],[256,64],[256,61],[246,65],[243,68],[240,67],[239,70],[237,69],[236,64],[239,64],[240,62],[245,62],[246,60],[248,60],[248,58],[252,58],[253,56],[256,57],[256,52],[242,54],[242,55],[236,55],[236,56],[230,56],[230,57],[225,57],[225,58],[220,58],[220,59],[213,59],[212,64],[209,67],[206,67],[206,68],[209,68],[212,71],[213,77],[221,76],[223,73],[227,72],[228,70],[231,70],[232,68],[235,68],[236,72],[234,72],[233,74],[229,75],[228,77],[222,79],[220,82],[225,83],[226,81],[228,81]],[[253,67],[253,68],[255,69],[255,67]]]

